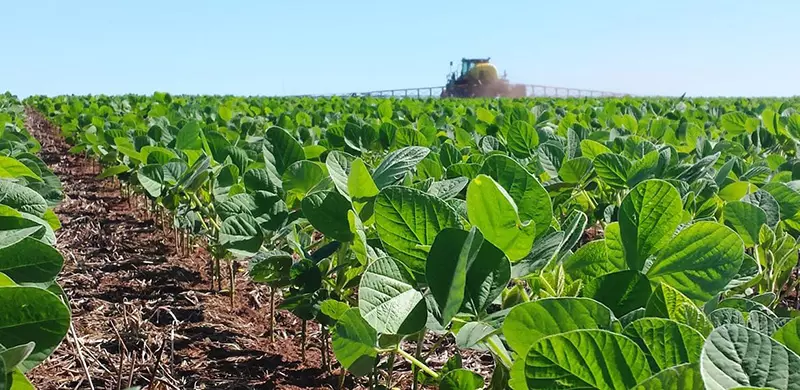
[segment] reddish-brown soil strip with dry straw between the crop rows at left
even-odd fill
[[[65,199],[55,210],[65,257],[58,281],[74,325],[74,334],[29,373],[39,389],[338,388],[338,364],[330,373],[322,367],[317,324],[308,325],[305,360],[301,321],[291,313],[278,311],[270,342],[267,287],[239,270],[233,304],[211,290],[203,248],[180,255],[172,232],[158,226],[141,197],[128,198],[112,179],[96,179],[97,168],[70,154],[58,129],[34,110],[27,116],[42,143],[41,158],[64,185]],[[450,338],[429,364],[440,367],[452,351]],[[464,365],[488,377],[491,357],[466,353]],[[408,363],[398,359],[394,371],[397,386],[410,388]],[[347,376],[344,388],[363,383]]]

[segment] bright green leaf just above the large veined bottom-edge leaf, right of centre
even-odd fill
[[[588,298],[545,298],[515,306],[503,322],[511,348],[524,353],[543,337],[580,329],[612,329],[614,314]]]

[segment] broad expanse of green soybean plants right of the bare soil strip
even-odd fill
[[[800,388],[796,100],[27,103],[371,387]]]

